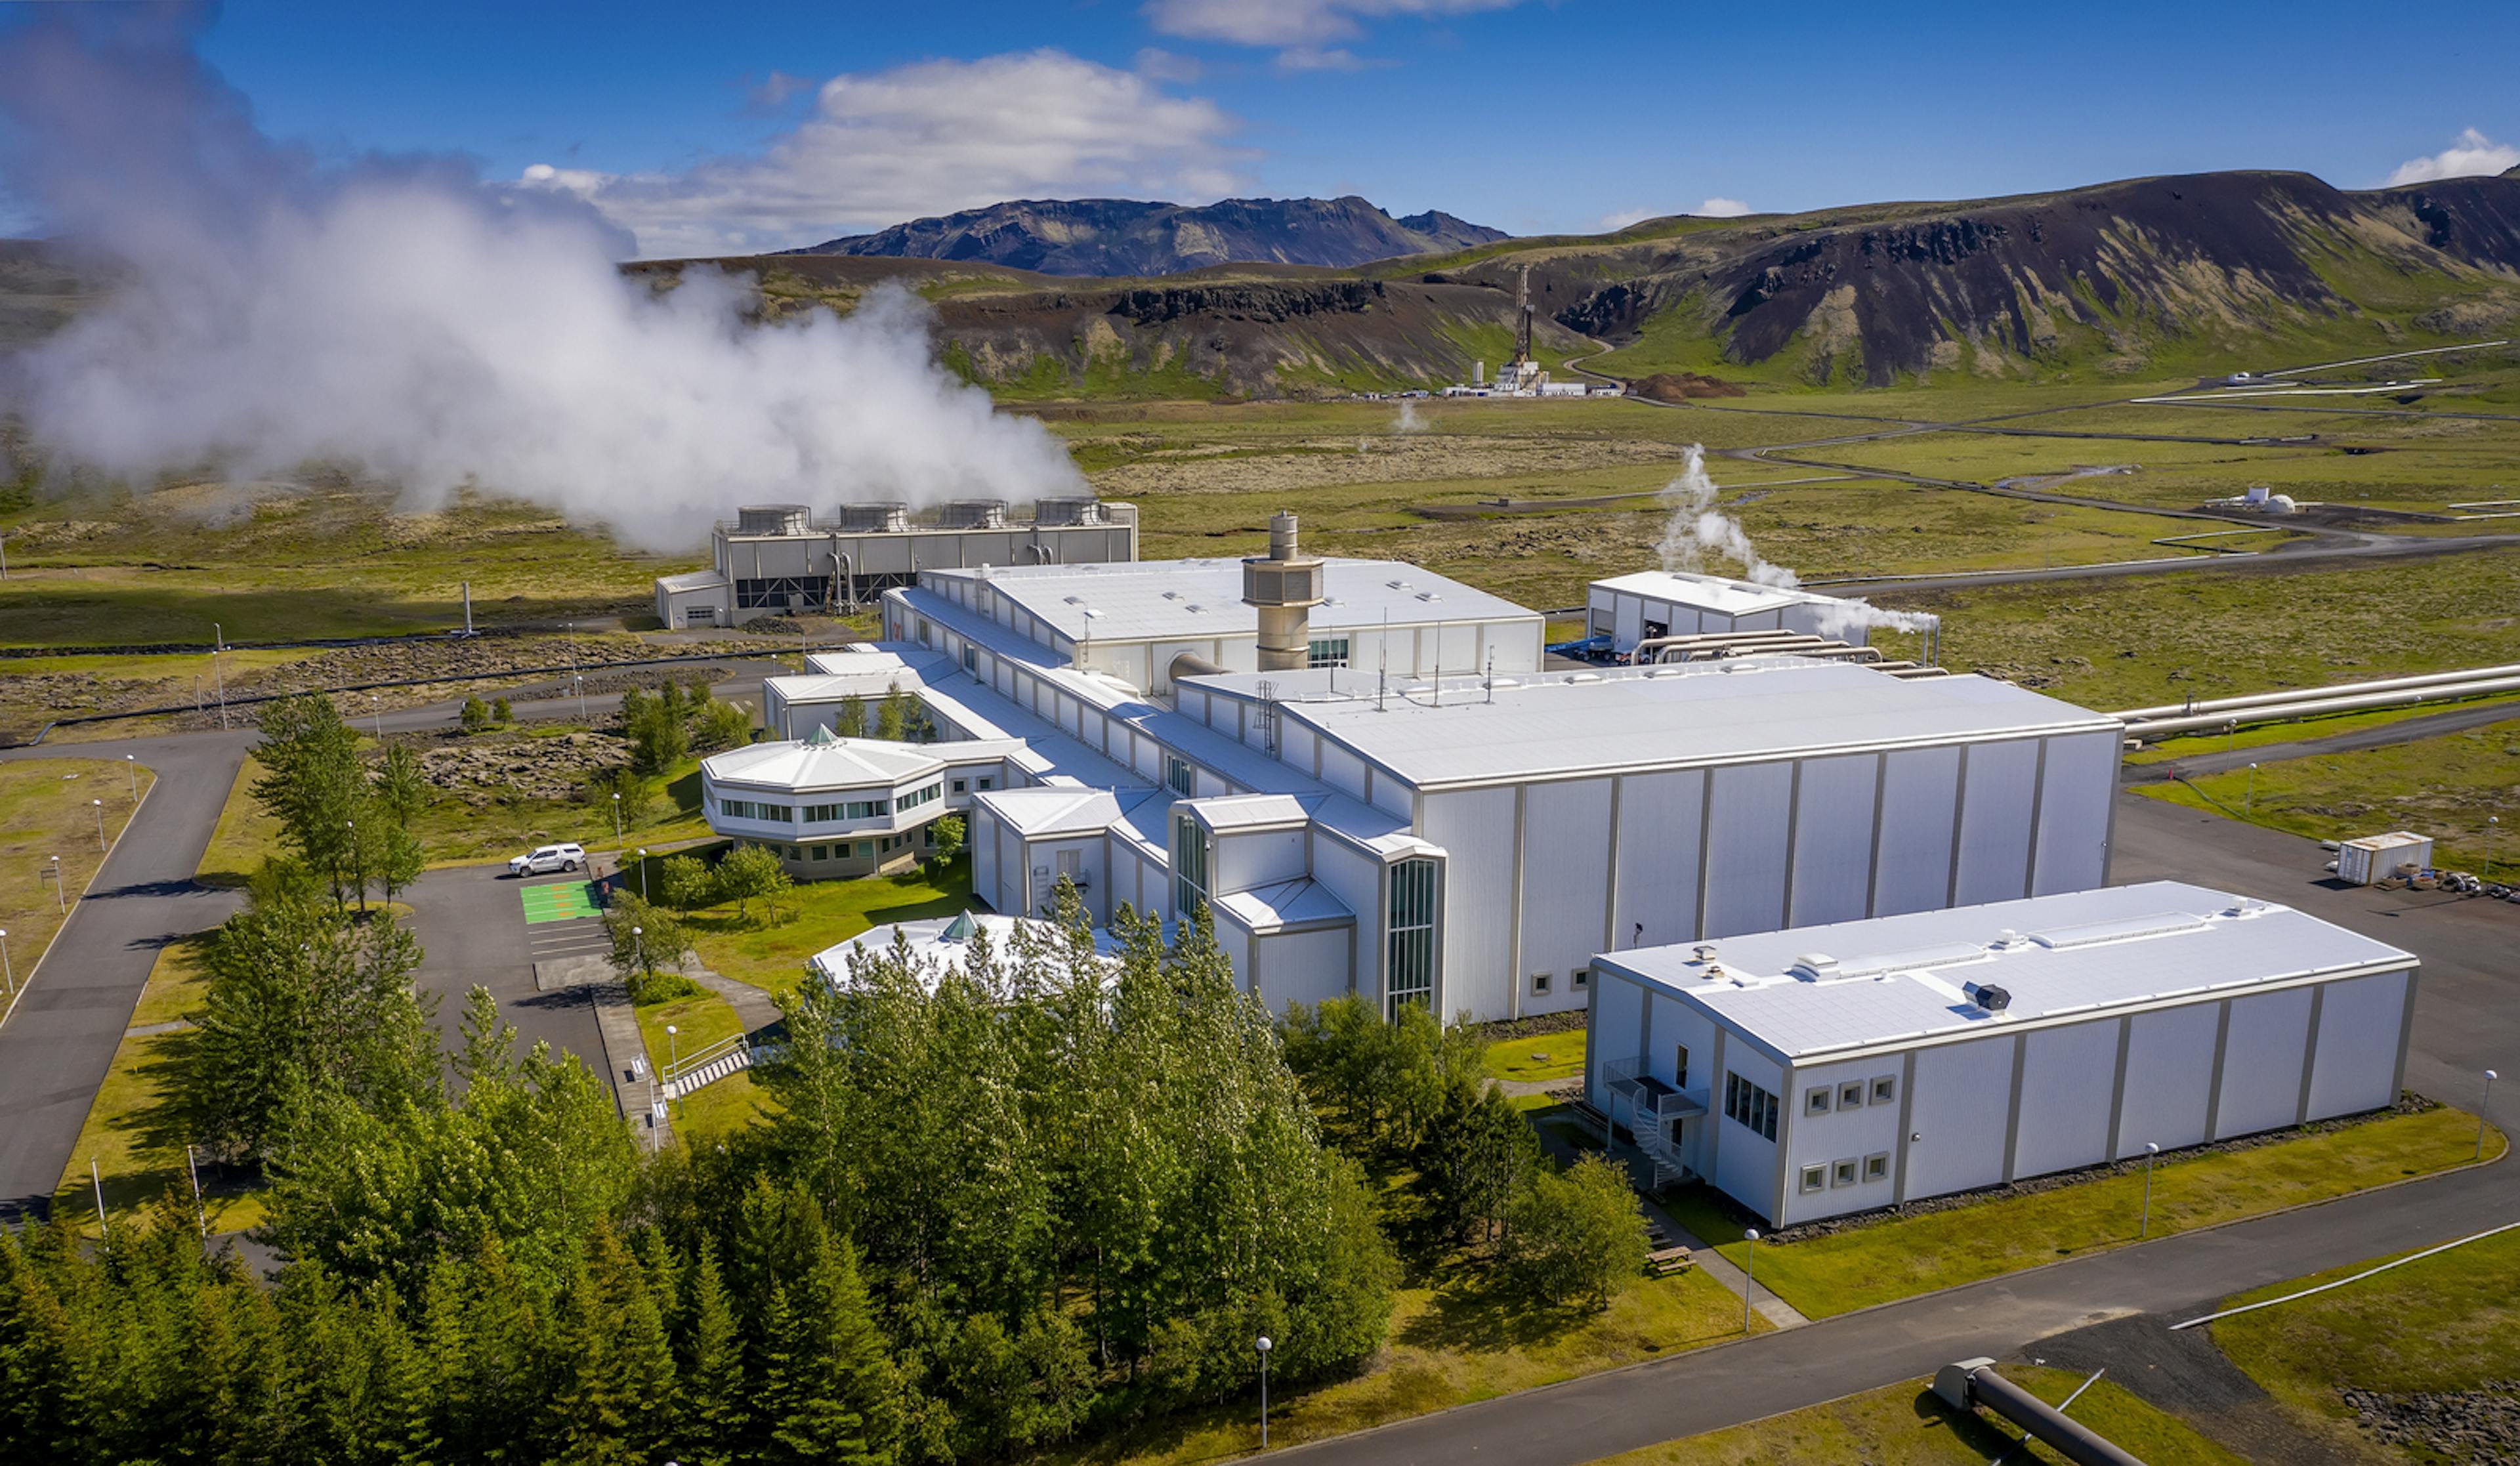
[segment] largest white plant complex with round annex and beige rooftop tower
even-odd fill
[[[1270,1008],[1567,1010],[1605,950],[2107,877],[2107,715],[1807,655],[1542,673],[1537,615],[1303,559],[1290,516],[1242,564],[922,572],[885,630],[766,683],[784,743],[703,766],[713,829],[844,874],[968,811],[995,912],[1041,914],[1058,877],[1096,922],[1205,902]],[[895,685],[927,763],[839,773],[839,708]],[[915,783],[942,793],[905,814]]]

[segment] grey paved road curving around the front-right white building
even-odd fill
[[[2296,904],[2424,957],[2407,1083],[2475,1103],[2477,1073],[2520,1065],[2520,909],[2495,902],[2336,887],[2316,841],[2119,796],[2114,882],[2180,877]],[[2034,1340],[2137,1312],[2182,1312],[2230,1292],[2381,1252],[2447,1242],[2520,1217],[2520,1164],[2434,1176],[2323,1207],[2165,1237],[1691,1350],[1608,1375],[1504,1395],[1290,1453],[1356,1466],[1578,1466],[2011,1355]]]

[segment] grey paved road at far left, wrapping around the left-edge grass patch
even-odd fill
[[[8,1116],[0,1217],[53,1196],[166,940],[217,927],[234,909],[232,892],[197,887],[192,874],[249,741],[249,733],[194,733],[0,753],[13,761],[134,753],[156,773],[86,899],[28,975],[18,1013],[0,1025],[0,1116]]]

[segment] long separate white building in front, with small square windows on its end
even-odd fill
[[[2374,1111],[2417,960],[2180,882],[1595,957],[1588,1091],[1779,1227]]]

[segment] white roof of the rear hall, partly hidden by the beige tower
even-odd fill
[[[978,579],[1068,640],[1205,640],[1250,637],[1260,630],[1260,612],[1242,605],[1240,559],[1011,564],[985,577],[978,569],[920,574]],[[1323,559],[1320,584],[1326,599],[1310,612],[1315,632],[1376,627],[1386,620],[1396,627],[1540,620],[1509,599],[1396,559]]]

